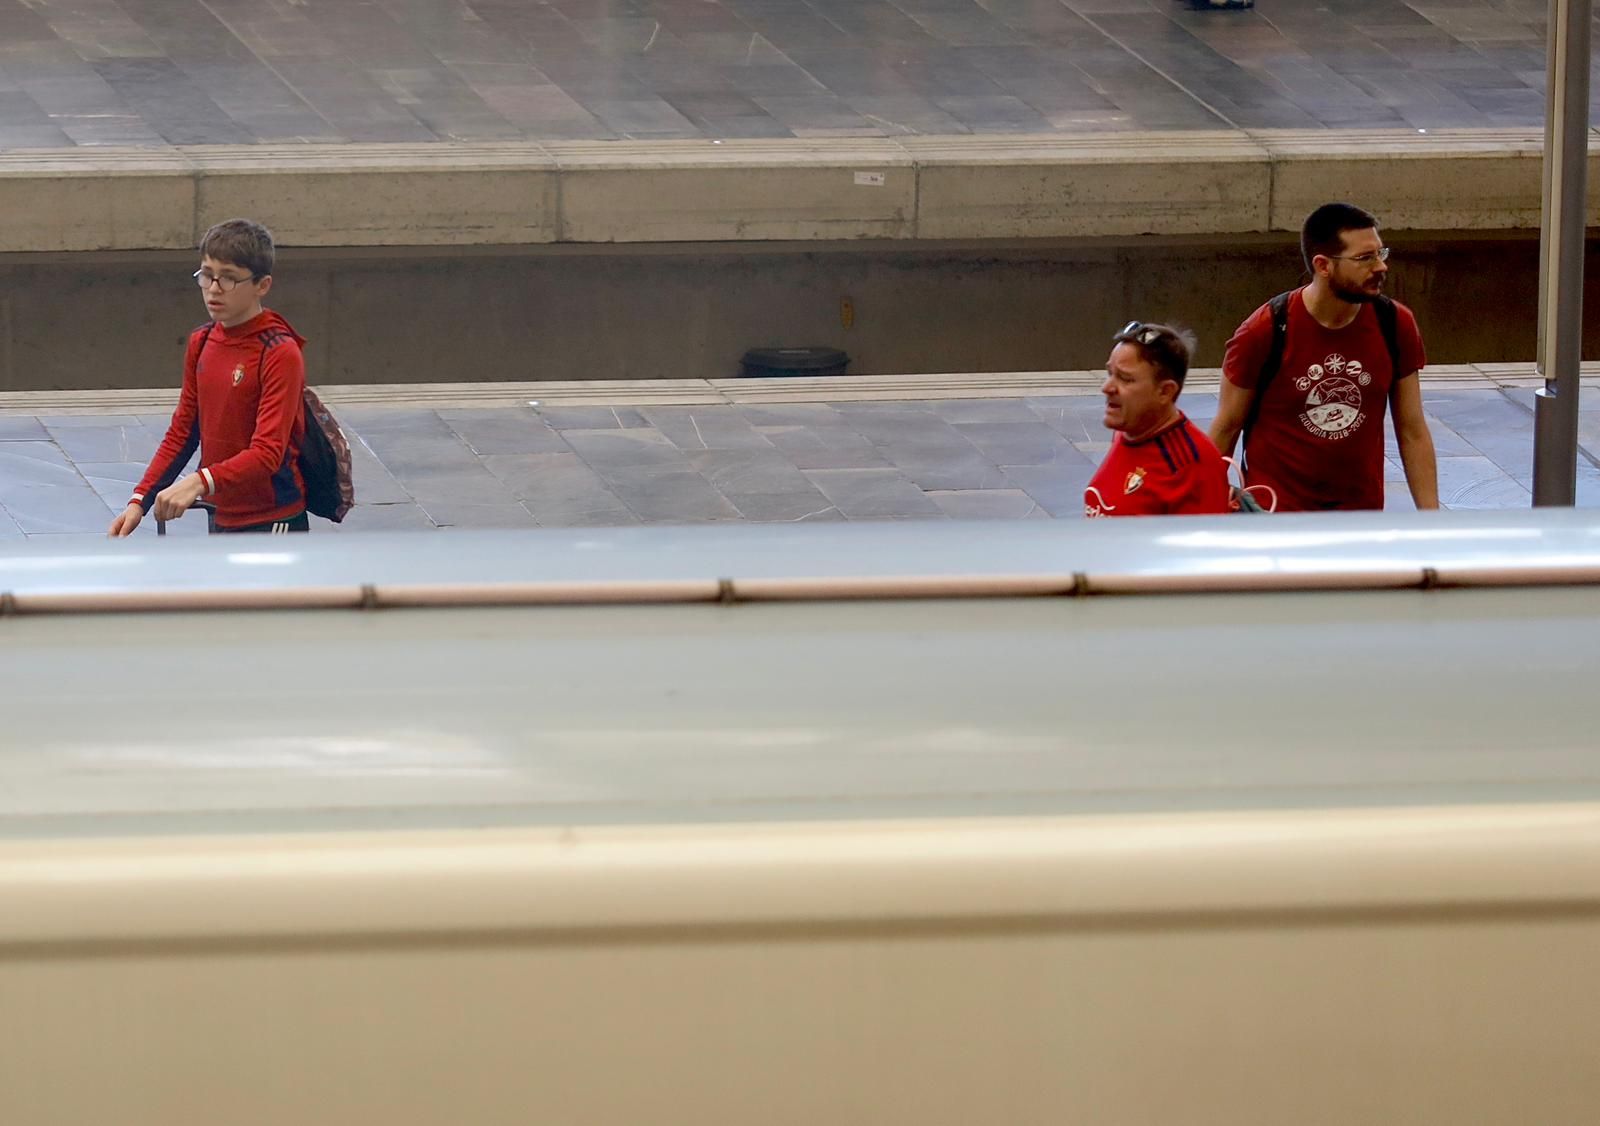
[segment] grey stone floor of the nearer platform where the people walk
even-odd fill
[[[1531,390],[1424,401],[1453,509],[1530,504]],[[1184,406],[1208,419],[1214,393]],[[640,408],[346,408],[357,509],[338,531],[795,520],[1082,518],[1096,397]],[[0,539],[104,534],[165,416],[0,417]],[[1600,411],[1579,504],[1600,505]],[[1394,445],[1389,504],[1410,507]],[[334,525],[314,521],[317,529]],[[198,517],[171,534],[203,534]],[[139,536],[154,534],[146,521]]]

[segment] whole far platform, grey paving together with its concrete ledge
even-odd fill
[[[0,0],[0,251],[1539,224],[1544,0],[258,8]]]

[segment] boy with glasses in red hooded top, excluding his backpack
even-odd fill
[[[152,507],[176,520],[206,497],[213,531],[306,531],[302,339],[261,299],[272,288],[272,234],[250,219],[200,240],[200,285],[211,320],[189,334],[184,387],[144,480],[112,520],[128,536]],[[182,480],[195,446],[200,469]]]

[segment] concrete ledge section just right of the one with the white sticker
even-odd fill
[[[918,238],[1198,235],[1267,229],[1266,154],[1238,133],[907,138]]]

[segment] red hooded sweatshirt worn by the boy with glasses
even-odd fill
[[[146,512],[178,480],[195,446],[219,528],[291,520],[306,509],[301,336],[270,309],[243,325],[189,334],[184,389],[133,502]]]

